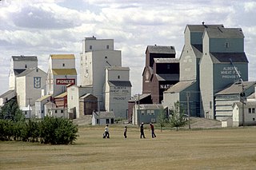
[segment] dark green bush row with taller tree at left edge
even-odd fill
[[[15,100],[7,102],[0,111],[0,140],[72,144],[78,137],[77,133],[78,125],[66,118],[26,120]]]

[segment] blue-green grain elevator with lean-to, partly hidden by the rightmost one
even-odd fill
[[[199,62],[202,58],[202,34],[206,28],[222,25],[187,25],[184,31],[185,44],[179,58],[179,82],[163,93],[162,105],[174,107],[179,101],[184,109],[189,107],[190,115],[200,117]]]

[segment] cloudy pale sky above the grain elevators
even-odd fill
[[[47,72],[50,54],[74,53],[79,72],[82,40],[92,36],[114,39],[132,95],[142,93],[147,45],[173,45],[179,58],[186,25],[202,22],[242,28],[249,81],[256,81],[255,9],[254,0],[0,0],[0,95],[11,56],[35,55]]]

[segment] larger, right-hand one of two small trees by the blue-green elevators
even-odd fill
[[[170,125],[171,127],[176,127],[176,131],[178,131],[178,127],[182,127],[186,125],[186,117],[184,115],[185,111],[177,101],[174,103],[173,109],[170,110]]]

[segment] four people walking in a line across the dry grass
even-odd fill
[[[156,135],[154,134],[154,125],[152,123],[150,123],[150,129],[151,129],[152,138],[156,137]],[[140,125],[140,132],[141,132],[140,138],[142,138],[142,137],[146,138],[145,134],[144,134],[144,123],[143,122]],[[124,128],[123,136],[125,138],[127,138],[127,126],[125,126],[125,128]],[[104,130],[104,133],[103,133],[103,138],[110,138],[109,125],[106,125],[106,127],[105,127],[105,130]]]

